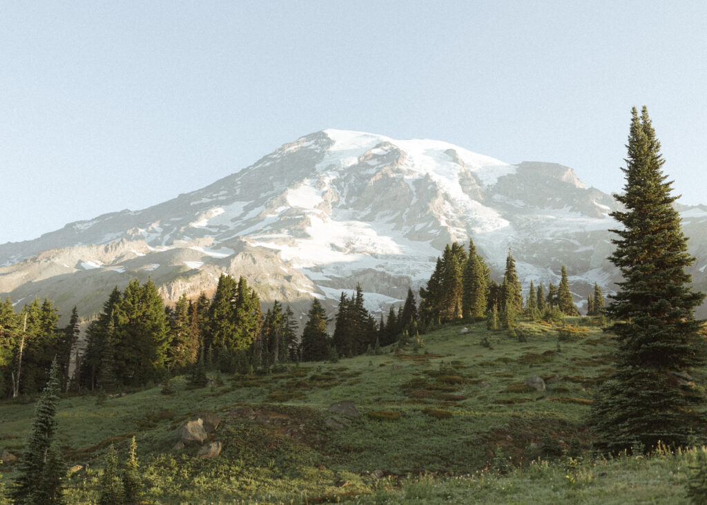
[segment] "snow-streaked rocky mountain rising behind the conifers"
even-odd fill
[[[571,168],[510,165],[443,141],[327,129],[254,165],[140,211],[68,224],[0,245],[0,294],[95,313],[112,286],[150,276],[168,301],[243,275],[264,301],[335,303],[361,282],[371,310],[423,285],[445,244],[471,236],[500,277],[512,248],[520,278],[570,274],[578,303],[617,272],[607,216],[617,203]],[[683,209],[701,285],[707,208]]]

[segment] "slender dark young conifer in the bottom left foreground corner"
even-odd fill
[[[62,477],[66,468],[53,447],[61,391],[60,373],[57,359],[54,359],[49,381],[37,402],[27,449],[18,464],[19,475],[11,488],[10,496],[16,504],[64,503]]]

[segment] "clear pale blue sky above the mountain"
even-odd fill
[[[706,203],[705,1],[0,3],[0,243],[203,187],[324,128],[614,192],[630,109]]]

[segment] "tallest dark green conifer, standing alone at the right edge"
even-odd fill
[[[683,378],[707,361],[694,308],[702,293],[689,287],[687,253],[678,212],[672,206],[672,182],[662,173],[660,143],[648,112],[632,111],[624,194],[615,195],[625,211],[612,217],[616,250],[610,260],[621,269],[619,292],[605,309],[618,336],[614,374],[592,404],[590,422],[597,446],[621,451],[651,448],[662,441],[685,445],[699,431],[703,394]]]

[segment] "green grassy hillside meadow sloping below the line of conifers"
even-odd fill
[[[578,321],[579,329],[575,321],[522,324],[526,342],[485,323],[463,335],[452,325],[401,354],[384,349],[269,376],[211,372],[211,388],[189,388],[180,377],[173,395],[156,386],[103,405],[91,395],[65,397],[57,443],[69,465],[85,467],[67,477],[67,497],[95,501],[107,447],[124,451],[135,434],[148,499],[158,503],[684,502],[682,453],[585,459],[569,470],[566,458],[538,459],[548,437],[560,447],[573,436],[590,446],[585,419],[598,378],[611,371],[613,340]],[[529,376],[544,377],[547,391],[525,387]],[[327,407],[341,400],[361,417],[329,428]],[[236,415],[244,406],[259,418]],[[0,402],[0,452],[21,452],[33,410]],[[204,410],[223,418],[215,460],[172,448],[180,422]],[[13,476],[0,465],[0,488]]]

